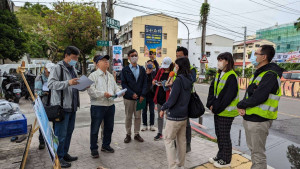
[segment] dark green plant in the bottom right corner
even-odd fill
[[[300,168],[300,147],[296,147],[293,144],[288,146],[287,158],[292,164],[292,169]]]

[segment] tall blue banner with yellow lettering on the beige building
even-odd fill
[[[145,51],[144,56],[149,57],[152,51],[155,57],[161,57],[162,51],[162,27],[145,25]]]

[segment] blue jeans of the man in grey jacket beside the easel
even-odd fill
[[[58,137],[59,145],[57,155],[62,159],[70,148],[71,138],[75,127],[76,112],[65,112],[65,119],[60,122],[55,122],[54,133]]]

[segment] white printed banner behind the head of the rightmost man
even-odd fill
[[[276,53],[272,61],[275,63],[300,63],[300,51]]]

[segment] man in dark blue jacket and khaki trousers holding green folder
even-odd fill
[[[142,66],[137,64],[138,53],[135,49],[128,52],[130,65],[126,66],[121,73],[122,88],[127,89],[124,95],[125,105],[125,127],[126,138],[124,143],[131,141],[131,123],[132,115],[134,115],[134,139],[139,142],[144,142],[144,139],[139,135],[141,127],[141,110],[136,111],[137,102],[143,102],[147,94],[147,75]]]

